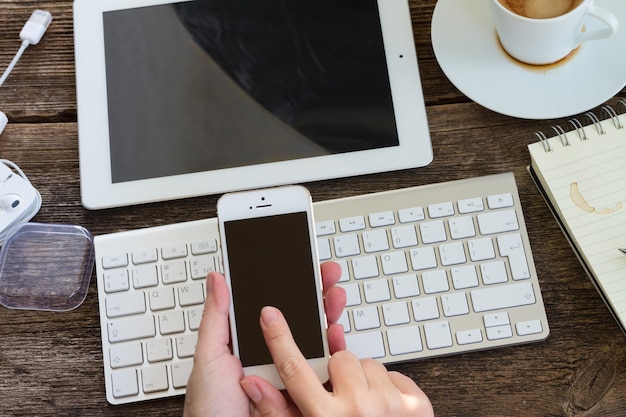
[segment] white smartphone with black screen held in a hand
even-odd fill
[[[296,344],[326,382],[330,352],[308,190],[286,186],[225,194],[217,217],[232,297],[233,353],[244,374],[284,388],[259,324],[261,309],[270,305],[282,311]]]

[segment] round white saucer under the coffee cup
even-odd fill
[[[596,0],[621,25],[610,39],[582,45],[552,68],[528,68],[502,50],[488,0],[439,0],[432,44],[452,83],[478,104],[508,116],[553,119],[596,107],[626,85],[626,1]],[[588,29],[602,24],[588,18]]]

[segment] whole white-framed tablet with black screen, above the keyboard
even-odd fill
[[[424,166],[407,0],[75,0],[82,202]]]

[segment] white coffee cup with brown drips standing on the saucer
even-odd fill
[[[555,63],[584,42],[613,36],[619,27],[617,17],[595,6],[593,0],[582,0],[569,12],[544,19],[516,14],[498,0],[489,3],[502,47],[513,58],[532,65]],[[606,27],[586,31],[586,16],[600,20]]]

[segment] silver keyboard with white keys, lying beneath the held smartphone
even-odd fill
[[[321,260],[343,268],[348,349],[383,363],[543,340],[512,174],[314,204]],[[107,400],[185,393],[221,270],[215,218],[96,236]]]

